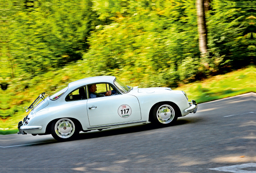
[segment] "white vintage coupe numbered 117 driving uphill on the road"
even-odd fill
[[[18,134],[52,134],[59,141],[67,141],[80,131],[148,121],[172,125],[178,117],[196,113],[197,109],[196,101],[188,102],[184,91],[167,87],[132,88],[114,76],[80,79],[47,98],[44,94],[24,108],[31,112],[19,122]]]

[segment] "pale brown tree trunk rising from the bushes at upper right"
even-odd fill
[[[207,29],[204,12],[204,0],[196,0],[197,28],[199,35],[199,50],[204,57],[207,52]]]

